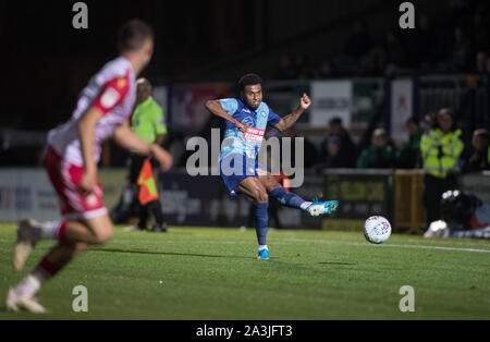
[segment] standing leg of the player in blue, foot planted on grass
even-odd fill
[[[238,191],[254,199],[254,217],[259,244],[258,259],[269,260],[269,247],[267,246],[269,196],[267,190],[257,178],[250,176],[240,183]]]

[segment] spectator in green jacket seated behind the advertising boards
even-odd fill
[[[372,145],[365,149],[357,161],[358,169],[390,169],[395,166],[395,151],[389,145],[384,129],[372,133]]]

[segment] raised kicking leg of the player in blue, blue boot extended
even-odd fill
[[[306,201],[296,194],[287,193],[270,173],[258,171],[258,174],[269,196],[275,198],[283,206],[305,210],[313,217],[332,213],[339,207],[336,200]]]

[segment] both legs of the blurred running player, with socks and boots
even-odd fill
[[[46,255],[35,270],[9,291],[9,310],[28,310],[42,314],[46,309],[35,298],[41,285],[53,278],[71,260],[86,252],[89,245],[106,244],[112,239],[112,222],[108,215],[86,219],[83,222],[39,223],[34,220],[22,222],[14,248],[14,267],[21,270],[39,241],[52,240],[59,244]]]

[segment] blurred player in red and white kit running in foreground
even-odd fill
[[[119,36],[120,57],[106,64],[82,91],[72,119],[49,132],[45,166],[58,194],[63,221],[21,222],[13,264],[21,270],[41,240],[59,244],[36,269],[9,291],[7,308],[41,314],[36,301],[41,285],[90,245],[111,241],[113,228],[102,201],[97,163],[101,144],[113,138],[123,148],[155,158],[163,170],[171,168],[170,154],[138,138],[128,119],[136,100],[136,76],[151,60],[154,34],[142,21],[126,23]]]

